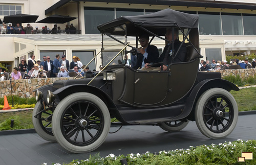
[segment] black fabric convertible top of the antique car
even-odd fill
[[[181,29],[198,28],[198,15],[187,14],[172,9],[164,9],[155,13],[137,16],[122,16],[99,25],[97,28],[101,33],[108,32],[112,35],[124,35],[122,28],[116,27],[125,25],[128,36],[141,34],[137,27],[143,27],[157,35],[164,35],[166,27],[177,27]]]

